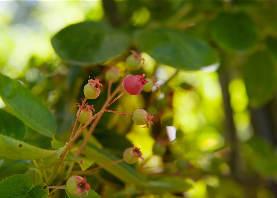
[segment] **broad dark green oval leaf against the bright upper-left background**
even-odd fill
[[[124,53],[131,39],[108,24],[86,21],[62,29],[51,42],[65,62],[87,65],[105,62]]]

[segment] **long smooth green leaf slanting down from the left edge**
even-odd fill
[[[47,106],[20,82],[0,73],[0,96],[14,115],[35,131],[52,136],[56,121]]]

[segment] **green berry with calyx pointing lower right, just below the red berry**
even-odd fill
[[[154,125],[154,123],[152,122],[153,119],[154,119],[154,116],[150,115],[143,109],[135,110],[132,116],[132,120],[136,125],[145,124],[147,128],[149,128],[149,123]]]

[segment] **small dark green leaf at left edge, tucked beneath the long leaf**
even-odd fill
[[[25,137],[25,125],[13,115],[0,109],[0,134],[23,140]]]

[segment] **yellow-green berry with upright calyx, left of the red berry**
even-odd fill
[[[100,86],[103,87],[101,83],[99,83],[99,79],[95,78],[94,80],[90,79],[87,81],[88,83],[84,86],[84,94],[88,99],[95,99],[99,96],[101,90]]]

